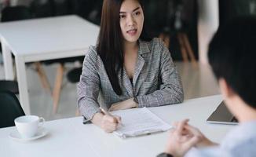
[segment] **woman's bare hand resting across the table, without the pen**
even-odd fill
[[[136,108],[137,104],[133,101],[133,98],[123,100],[121,102],[112,104],[108,111],[124,110],[128,108]]]

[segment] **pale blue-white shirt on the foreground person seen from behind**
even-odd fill
[[[185,156],[256,156],[256,121],[244,122],[236,126],[218,147],[192,149]]]

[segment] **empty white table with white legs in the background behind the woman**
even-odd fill
[[[14,79],[13,53],[20,104],[27,115],[31,112],[25,63],[83,56],[89,46],[95,46],[99,30],[97,25],[75,15],[0,24],[5,79]]]

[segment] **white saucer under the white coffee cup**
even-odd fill
[[[35,133],[34,137],[24,138],[20,136],[20,133],[17,130],[13,130],[13,132],[9,133],[9,137],[15,141],[33,141],[46,136],[47,133],[46,129],[39,129],[38,133]]]

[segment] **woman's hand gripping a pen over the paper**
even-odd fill
[[[119,123],[121,122],[121,117],[115,115],[103,115],[101,120],[101,128],[107,132],[112,133],[117,130]]]

